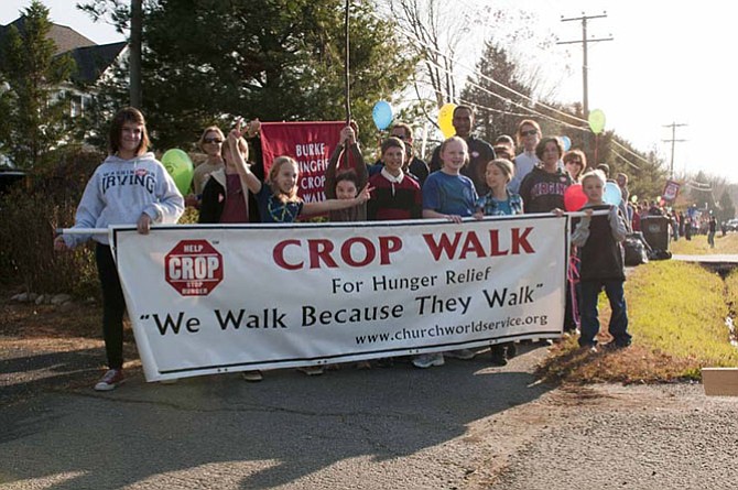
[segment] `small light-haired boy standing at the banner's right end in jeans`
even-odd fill
[[[582,218],[572,235],[572,243],[579,248],[582,285],[582,336],[579,346],[597,351],[595,336],[599,331],[597,318],[597,297],[605,288],[610,302],[612,316],[609,330],[616,348],[628,347],[631,336],[628,334],[628,308],[622,284],[626,280],[622,241],[626,238],[626,224],[617,206],[603,200],[606,177],[601,171],[587,172],[582,177],[582,186],[587,196],[583,207],[586,216]],[[607,216],[593,216],[594,210],[607,209]]]

